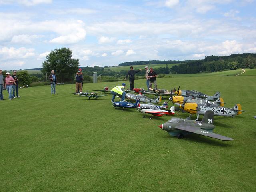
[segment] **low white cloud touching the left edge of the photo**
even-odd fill
[[[14,47],[3,47],[0,48],[0,56],[2,57],[2,60],[7,60],[7,59],[25,59],[34,56],[34,49],[32,48],[14,48]]]

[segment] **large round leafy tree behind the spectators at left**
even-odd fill
[[[44,76],[54,70],[58,82],[65,82],[74,79],[74,74],[79,67],[79,60],[72,59],[72,51],[69,48],[54,49],[46,56],[46,61],[42,63],[42,73]],[[48,77],[47,77],[48,78]]]

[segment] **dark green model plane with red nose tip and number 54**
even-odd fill
[[[179,139],[184,138],[184,135],[199,134],[222,141],[230,141],[232,138],[225,137],[216,133],[213,133],[213,111],[207,111],[204,114],[202,121],[194,121],[188,119],[172,118],[168,122],[158,126],[161,129],[167,131],[172,136],[177,136]]]

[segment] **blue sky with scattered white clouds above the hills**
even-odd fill
[[[91,67],[256,53],[256,0],[0,0],[0,69],[62,47]]]

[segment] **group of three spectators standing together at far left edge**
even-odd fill
[[[9,72],[6,73],[6,78],[4,79],[3,71],[0,69],[0,100],[4,100],[3,90],[6,88],[9,94],[9,100],[20,98],[19,96],[19,79],[17,76],[17,72],[13,71],[12,76]],[[16,97],[15,97],[16,92]]]

